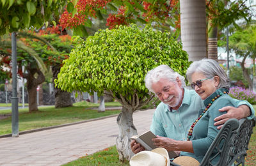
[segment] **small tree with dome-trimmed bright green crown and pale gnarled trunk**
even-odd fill
[[[148,70],[167,64],[185,75],[189,66],[188,54],[170,33],[140,29],[136,25],[105,29],[80,44],[70,52],[55,83],[65,91],[108,91],[122,104],[117,117],[120,133],[116,139],[120,160],[132,156],[130,137],[137,131],[132,123],[132,113],[152,100],[144,78]]]

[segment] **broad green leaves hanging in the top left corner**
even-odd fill
[[[44,22],[53,20],[52,15],[59,15],[59,11],[66,1],[0,1],[0,34],[6,34],[19,29],[34,27],[39,29]]]

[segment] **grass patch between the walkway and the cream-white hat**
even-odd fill
[[[74,165],[120,165],[120,166],[128,166],[129,162],[125,161],[124,163],[120,162],[118,159],[118,153],[116,151],[116,146],[111,146],[103,151],[99,151],[98,153],[94,153],[93,155],[86,155],[78,160],[73,162],[64,164],[65,166],[74,166]]]

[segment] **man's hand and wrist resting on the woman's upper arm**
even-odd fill
[[[227,106],[223,107],[222,109],[219,109],[219,111],[227,111],[227,114],[223,114],[214,119],[214,121],[216,121],[214,125],[218,126],[218,129],[220,129],[223,126],[223,124],[230,118],[236,118],[239,120],[244,117],[250,116],[250,108],[247,105],[240,105],[238,108]]]

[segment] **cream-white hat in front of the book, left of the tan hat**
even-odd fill
[[[169,166],[170,158],[168,155],[168,151],[163,147],[158,147],[153,149],[152,151],[141,151],[136,155],[132,156],[130,160],[131,166]]]

